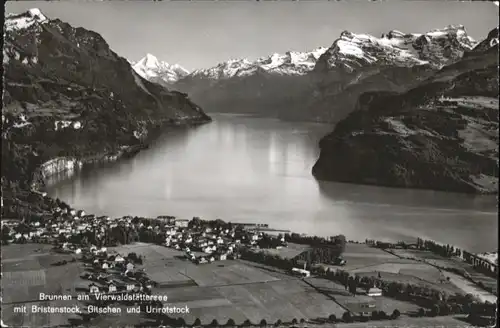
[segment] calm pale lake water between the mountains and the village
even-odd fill
[[[55,176],[49,195],[100,215],[200,216],[353,240],[420,236],[473,252],[498,247],[495,197],[318,182],[311,168],[331,126],[213,118],[165,134],[133,159]]]

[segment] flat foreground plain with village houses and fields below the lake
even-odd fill
[[[55,201],[43,216],[2,220],[2,244],[4,309],[42,301],[40,292],[69,294],[72,301],[83,294],[88,295],[83,307],[88,310],[70,319],[97,325],[114,322],[120,313],[126,318],[124,326],[149,320],[153,326],[227,322],[314,327],[325,322],[400,320],[400,316],[446,316],[453,321],[452,314],[464,313],[462,304],[480,302],[474,296],[457,296],[466,294],[457,287],[465,279],[417,258],[431,255],[422,250],[424,246],[439,248],[420,240],[403,247],[346,241],[342,235],[283,234],[265,224],[198,217],[111,218]],[[496,292],[496,284],[492,288]],[[493,304],[488,297],[492,301],[481,301],[483,312]],[[247,299],[260,302],[250,305]],[[190,314],[151,310],[166,305],[189,307]],[[278,310],[283,305],[288,310]],[[130,306],[140,306],[146,317],[126,313]],[[44,318],[38,323],[69,320],[61,315]],[[23,320],[28,319],[14,314],[4,323],[28,325]]]

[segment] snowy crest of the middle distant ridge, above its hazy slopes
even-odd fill
[[[254,61],[246,58],[230,59],[212,68],[196,70],[190,76],[227,79],[249,76],[257,72],[277,75],[304,75],[314,68],[318,58],[326,50],[327,48],[317,48],[310,52],[288,51],[284,54],[274,53]]]

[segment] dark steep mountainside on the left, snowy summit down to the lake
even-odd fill
[[[185,94],[141,78],[97,33],[38,9],[8,15],[3,48],[4,202],[58,156],[137,146],[151,131],[209,117]]]

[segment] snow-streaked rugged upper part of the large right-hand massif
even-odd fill
[[[318,69],[370,65],[431,65],[442,67],[462,57],[476,45],[463,25],[450,25],[425,34],[392,30],[377,38],[343,31],[318,61]]]

